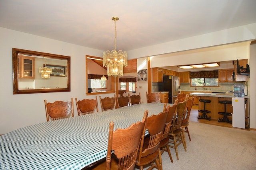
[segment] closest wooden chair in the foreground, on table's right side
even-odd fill
[[[114,129],[114,122],[109,123],[108,151],[106,162],[95,165],[93,170],[134,170],[140,143],[145,135],[148,111],[142,121],[132,123],[126,129]],[[112,153],[112,151],[114,151]],[[112,153],[112,154],[111,154]]]

